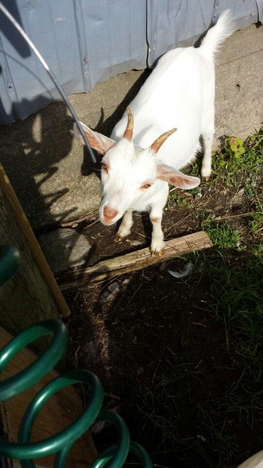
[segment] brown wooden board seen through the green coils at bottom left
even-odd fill
[[[2,349],[11,338],[12,336],[7,333],[7,331],[0,328],[0,349]],[[3,381],[17,374],[36,359],[37,356],[32,351],[24,348],[8,364],[7,368],[2,372],[0,380]],[[10,442],[17,442],[18,440],[19,424],[29,403],[38,391],[48,382],[56,378],[57,375],[57,372],[52,370],[30,389],[10,400],[0,403],[0,417],[3,433],[5,438]],[[60,390],[46,403],[38,414],[33,427],[31,441],[34,442],[55,435],[74,422],[82,411],[81,400],[73,387],[69,386]],[[35,464],[39,468],[53,468],[54,459],[54,455],[39,458],[35,461]],[[90,468],[95,459],[96,449],[91,433],[87,431],[73,445],[66,466],[70,468]],[[16,463],[12,464],[13,462],[11,461],[8,461],[8,463],[10,468],[20,466]]]

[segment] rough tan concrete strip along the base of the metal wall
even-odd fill
[[[237,31],[225,41],[216,69],[214,148],[223,135],[245,138],[262,125],[262,69],[262,26]],[[149,73],[131,71],[98,84],[91,93],[71,96],[78,117],[110,135]],[[99,166],[92,166],[71,129],[72,118],[61,101],[0,128],[0,161],[35,230],[98,207]]]

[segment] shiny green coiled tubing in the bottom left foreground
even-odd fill
[[[0,248],[0,285],[10,277],[18,265],[19,254],[9,246]],[[32,341],[53,334],[48,350],[27,369],[17,375],[0,382],[0,402],[22,393],[47,374],[59,361],[66,350],[68,330],[58,320],[45,320],[33,325],[13,338],[0,351],[0,373],[11,359]],[[38,412],[58,390],[76,384],[87,384],[90,387],[90,397],[87,408],[79,418],[66,429],[48,439],[30,442],[31,430]],[[98,377],[88,370],[71,370],[49,382],[38,392],[27,408],[19,428],[18,443],[11,443],[0,438],[0,454],[20,461],[22,468],[35,468],[32,459],[56,453],[54,468],[64,468],[68,453],[74,442],[81,437],[96,421],[110,422],[118,432],[118,442],[104,450],[92,468],[121,468],[128,453],[134,453],[143,468],[152,468],[150,456],[136,442],[130,441],[129,429],[123,419],[116,413],[102,408],[104,391]]]

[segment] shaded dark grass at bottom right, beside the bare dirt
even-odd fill
[[[178,459],[187,460],[187,467],[221,468],[225,464],[236,465],[237,460],[247,457],[236,440],[238,425],[244,424],[251,437],[260,438],[254,428],[263,409],[263,268],[260,259],[254,256],[244,265],[237,261],[229,267],[222,250],[196,253],[191,261],[196,265],[196,273],[188,281],[197,287],[201,277],[210,281],[211,294],[205,313],[222,324],[225,345],[217,352],[231,356],[238,377],[226,381],[219,396],[211,395],[208,402],[193,403],[194,382],[206,386],[206,374],[189,360],[187,344],[182,339],[181,349],[167,350],[169,368],[156,376],[153,388],[140,388],[137,401],[158,441],[156,453],[173,451]],[[190,411],[185,412],[185,408]],[[183,438],[186,420],[192,434]]]

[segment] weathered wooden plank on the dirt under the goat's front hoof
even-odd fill
[[[212,247],[212,242],[204,231],[184,235],[166,242],[162,256],[151,255],[148,248],[131,254],[121,255],[97,263],[93,267],[78,268],[64,273],[58,278],[60,289],[83,286],[87,283],[113,278],[124,273],[147,268],[150,265],[168,260],[171,257],[186,255],[197,250]]]

